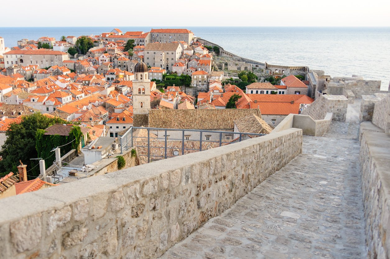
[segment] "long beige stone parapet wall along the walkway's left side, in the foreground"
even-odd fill
[[[0,258],[158,257],[301,148],[289,129],[2,199]]]

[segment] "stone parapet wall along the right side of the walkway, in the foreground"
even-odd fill
[[[371,122],[360,127],[360,167],[369,258],[390,257],[390,137]]]

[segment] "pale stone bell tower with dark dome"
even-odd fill
[[[133,114],[135,127],[148,126],[150,110],[150,80],[147,65],[138,62],[134,67],[133,80]]]

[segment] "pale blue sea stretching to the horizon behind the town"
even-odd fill
[[[117,27],[148,32],[152,27]],[[159,28],[159,27],[153,27]],[[330,76],[390,82],[390,27],[186,27],[226,51],[273,65],[308,66]],[[0,27],[5,46],[20,39],[98,35],[112,27]]]

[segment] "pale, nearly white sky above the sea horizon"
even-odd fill
[[[3,27],[390,26],[388,0],[2,1]],[[112,3],[112,5],[110,5]],[[137,3],[137,4],[134,4]],[[16,18],[17,17],[17,18]]]

